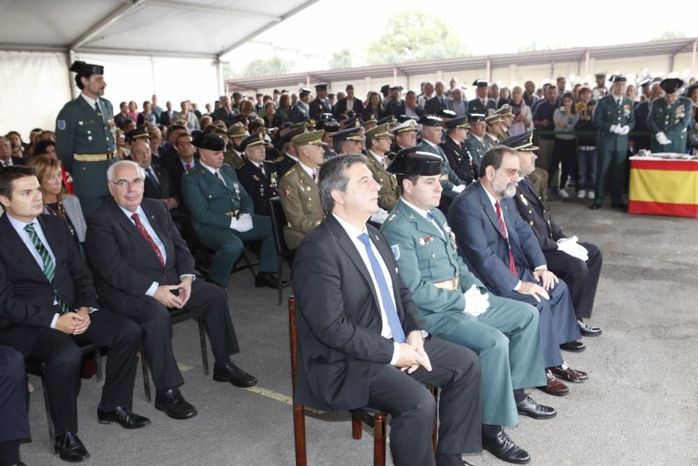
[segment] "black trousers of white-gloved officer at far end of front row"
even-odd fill
[[[582,319],[591,317],[594,298],[601,275],[601,265],[604,261],[600,249],[588,242],[579,245],[589,252],[588,261],[581,261],[562,251],[544,253],[548,268],[565,281],[570,289],[574,314]]]

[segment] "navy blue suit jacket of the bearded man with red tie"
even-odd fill
[[[521,219],[513,199],[499,201],[517,276],[509,270],[509,247],[499,221],[480,182],[470,184],[448,211],[448,223],[456,233],[459,254],[487,288],[496,295],[510,293],[526,270],[546,263],[530,226]]]

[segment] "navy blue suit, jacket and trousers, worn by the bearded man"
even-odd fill
[[[448,211],[448,223],[456,234],[458,253],[492,293],[537,307],[545,367],[560,365],[559,345],[581,337],[574,316],[570,292],[560,281],[548,291],[550,300],[538,303],[531,296],[514,291],[522,282],[536,282],[533,270],[546,265],[538,240],[517,212],[512,199],[500,201],[517,275],[509,270],[509,247],[499,228],[494,207],[480,182],[470,184],[459,194]]]

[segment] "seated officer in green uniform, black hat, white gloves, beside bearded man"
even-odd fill
[[[426,329],[480,356],[484,448],[500,459],[528,463],[528,453],[503,426],[517,425],[518,414],[557,414],[523,391],[545,383],[538,312],[488,293],[457,254],[456,237],[435,208],[443,189],[441,165],[440,158],[415,148],[397,154],[388,170],[397,175],[402,196],[380,231]]]

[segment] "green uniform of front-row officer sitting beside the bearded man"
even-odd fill
[[[519,415],[512,390],[546,384],[538,312],[491,293],[486,312],[463,312],[463,293],[472,285],[481,293],[487,288],[457,254],[446,217],[438,209],[429,212],[433,222],[401,198],[380,231],[429,332],[480,356],[482,423],[516,425]]]

